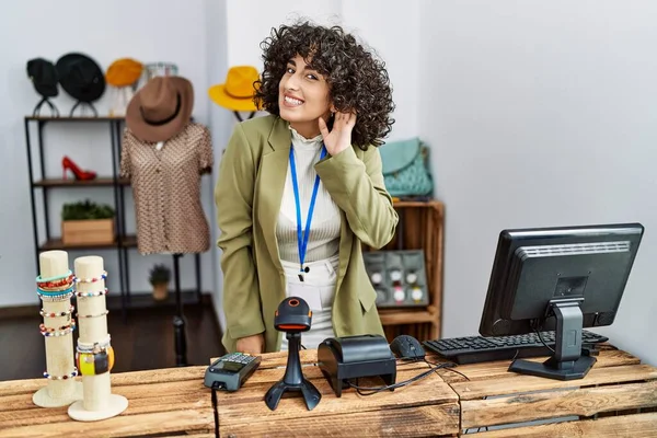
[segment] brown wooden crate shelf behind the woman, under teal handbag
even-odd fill
[[[419,341],[438,339],[442,325],[442,246],[445,205],[438,200],[395,201],[400,216],[393,240],[381,251],[424,250],[429,304],[423,308],[379,309],[387,338],[401,334]],[[364,247],[365,251],[373,251]]]

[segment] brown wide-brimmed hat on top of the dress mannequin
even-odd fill
[[[178,76],[155,77],[130,100],[126,125],[142,141],[166,141],[192,117],[194,89]]]

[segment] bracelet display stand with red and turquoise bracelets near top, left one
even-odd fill
[[[44,377],[48,384],[36,391],[32,401],[41,407],[67,406],[82,400],[82,383],[74,379],[78,370],[73,360],[72,273],[65,251],[47,251],[38,260],[41,275],[36,284],[43,302],[41,332],[46,344]]]

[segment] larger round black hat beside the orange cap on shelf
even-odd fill
[[[80,102],[97,101],[105,92],[105,76],[99,65],[82,54],[68,54],[57,61],[61,88]]]

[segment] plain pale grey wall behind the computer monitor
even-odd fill
[[[657,365],[657,4],[420,3],[419,132],[446,203],[445,336],[476,334],[504,228],[641,221],[615,323]]]

